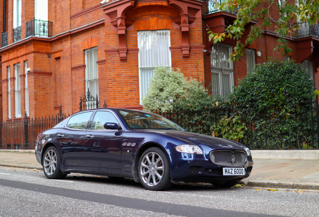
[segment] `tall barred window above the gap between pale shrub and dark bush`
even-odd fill
[[[233,46],[216,43],[211,52],[212,94],[225,96],[233,91],[234,64],[228,62]]]

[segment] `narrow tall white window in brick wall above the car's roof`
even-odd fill
[[[90,89],[91,96],[99,96],[99,75],[97,61],[97,47],[86,49],[85,55],[85,93]],[[87,108],[89,109],[89,108]]]

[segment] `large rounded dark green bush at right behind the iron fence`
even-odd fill
[[[230,98],[254,129],[246,132],[254,148],[300,148],[310,141],[310,125],[316,122],[313,92],[313,80],[300,64],[270,60],[257,64]]]

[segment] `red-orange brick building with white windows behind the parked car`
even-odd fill
[[[297,37],[287,38],[290,56],[273,51],[278,38],[272,26],[239,62],[227,63],[235,42],[213,46],[206,29],[221,33],[235,15],[220,12],[213,2],[0,0],[0,120],[55,115],[60,107],[65,114],[78,112],[88,88],[100,107],[105,101],[141,108],[156,65],[199,75],[214,94],[226,94],[265,57],[291,58],[317,87],[317,25],[303,25]],[[275,6],[270,13],[279,16]]]

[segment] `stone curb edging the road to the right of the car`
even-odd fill
[[[251,179],[251,180],[242,180],[238,183],[246,185],[246,186],[250,186],[250,187],[319,190],[319,182],[293,182],[289,180]]]

